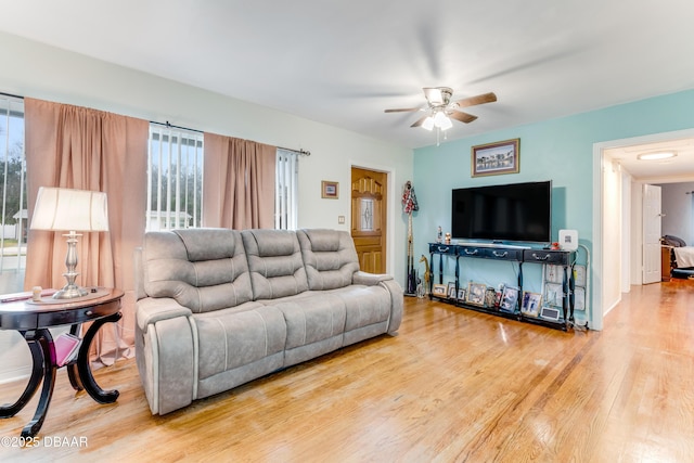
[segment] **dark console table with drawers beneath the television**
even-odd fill
[[[432,293],[435,279],[434,256],[438,256],[438,282],[444,284],[444,259],[455,259],[455,294],[460,287],[460,258],[490,259],[499,261],[518,262],[518,299],[513,311],[499,310],[498,307],[486,307],[474,305],[465,300],[453,299],[449,297],[437,296]],[[429,243],[429,298],[436,297],[439,300],[454,304],[459,307],[476,310],[485,313],[491,313],[507,319],[519,320],[528,323],[549,326],[557,330],[568,331],[574,322],[574,263],[576,253],[570,250],[550,250],[550,249],[532,249],[523,246],[504,246],[504,245],[487,245],[487,244],[441,244]],[[524,263],[548,263],[561,266],[562,275],[562,316],[558,320],[550,320],[538,317],[530,317],[519,310],[523,297],[523,265]]]

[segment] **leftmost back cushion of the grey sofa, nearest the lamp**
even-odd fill
[[[149,296],[174,298],[195,313],[253,299],[248,263],[236,230],[147,232],[142,266]]]

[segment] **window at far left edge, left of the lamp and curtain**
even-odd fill
[[[24,286],[27,198],[24,101],[0,95],[0,293]]]

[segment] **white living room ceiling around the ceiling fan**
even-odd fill
[[[449,140],[694,88],[692,0],[0,0],[0,11],[3,31],[410,147],[435,133],[409,127],[417,113],[383,110],[423,105],[422,87],[496,92]]]

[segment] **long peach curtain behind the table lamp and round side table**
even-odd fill
[[[39,187],[103,191],[106,233],[83,233],[78,243],[81,286],[125,291],[123,319],[107,323],[92,347],[92,363],[134,355],[133,249],[145,227],[149,121],[79,106],[25,99],[29,217]],[[29,230],[25,287],[65,285],[65,239]]]

